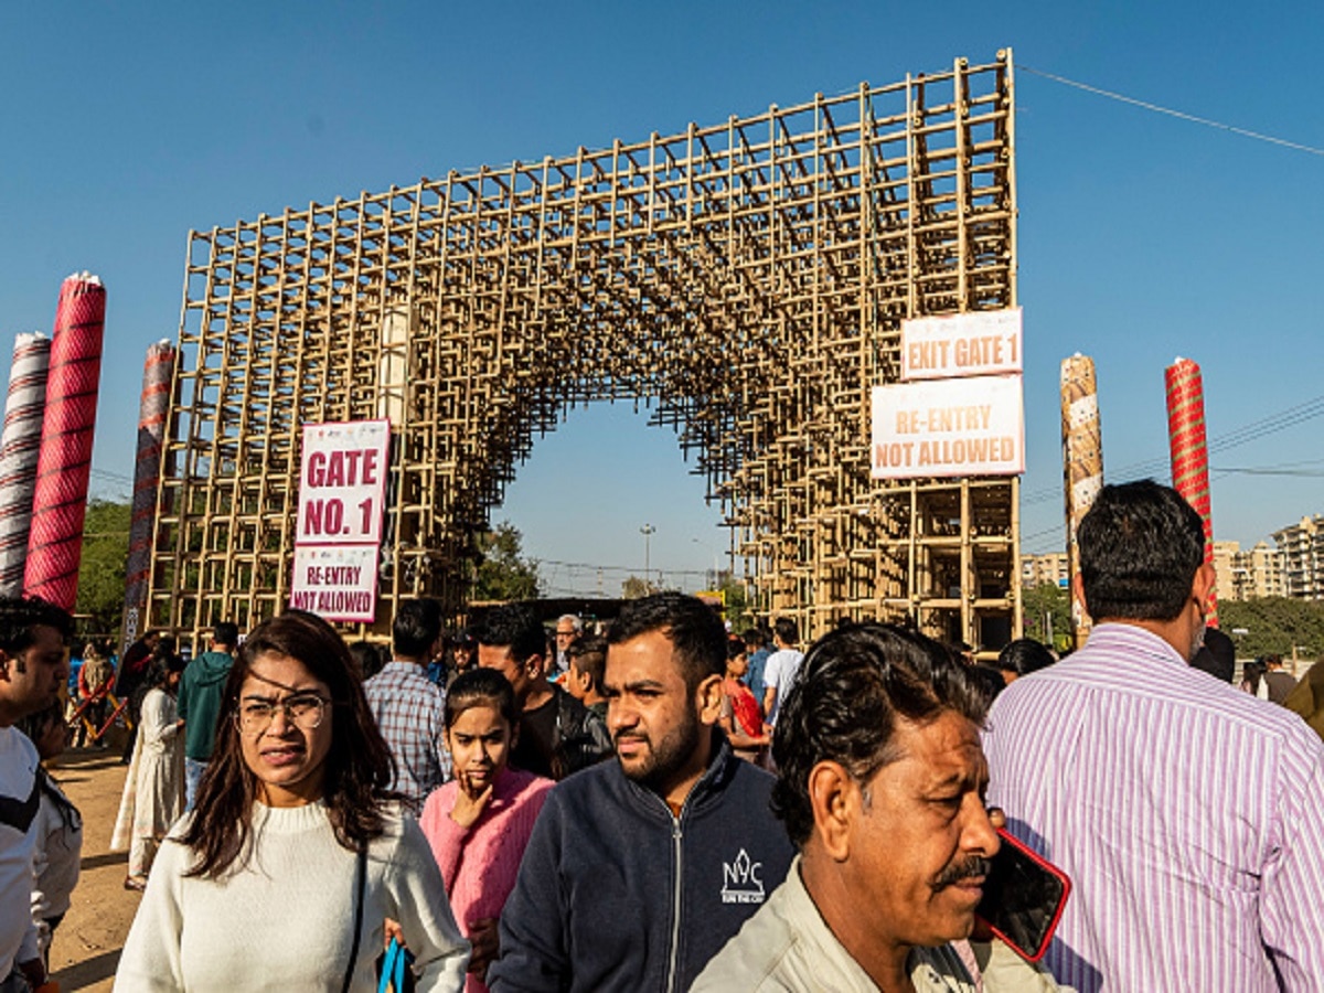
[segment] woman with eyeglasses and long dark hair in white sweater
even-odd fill
[[[372,990],[384,919],[416,988],[461,990],[461,937],[428,842],[387,792],[391,753],[350,650],[312,614],[258,625],[229,683],[197,806],[171,833],[117,989]]]

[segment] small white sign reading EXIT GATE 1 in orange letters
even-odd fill
[[[1021,372],[1021,308],[902,322],[902,381]]]

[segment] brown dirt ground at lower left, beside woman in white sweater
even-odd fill
[[[50,948],[52,978],[62,993],[111,988],[138,911],[139,895],[124,890],[128,855],[109,851],[128,768],[119,764],[120,749],[115,740],[106,751],[71,748],[50,769],[83,817],[82,875]]]

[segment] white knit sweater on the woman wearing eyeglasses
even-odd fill
[[[185,876],[192,853],[162,845],[115,974],[136,990],[327,990],[350,961],[355,857],[336,843],[326,806],[254,804],[253,855],[221,879]],[[176,826],[176,837],[187,825]],[[461,990],[469,943],[441,873],[412,820],[392,820],[368,849],[355,990],[377,988],[383,918],[399,920],[421,968],[417,989]]]

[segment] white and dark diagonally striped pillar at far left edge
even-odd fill
[[[19,335],[0,437],[0,596],[7,597],[23,593],[49,364],[49,338],[40,331]]]

